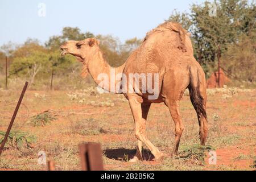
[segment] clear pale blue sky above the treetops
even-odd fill
[[[122,42],[143,38],[147,31],[168,19],[174,9],[189,12],[189,5],[203,0],[0,0],[0,46],[9,41],[23,43],[27,38],[46,42],[60,35],[63,27],[79,27],[93,34],[110,34]],[[46,16],[38,15],[39,3]]]

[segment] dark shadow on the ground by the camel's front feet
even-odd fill
[[[130,160],[136,154],[136,150],[127,148],[114,148],[106,149],[103,151],[107,158],[115,160]],[[142,150],[142,156],[144,160],[153,160],[154,155],[151,154],[150,150]]]

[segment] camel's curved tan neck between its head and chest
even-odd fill
[[[90,75],[98,86],[111,93],[119,92],[117,85],[121,81],[125,63],[117,68],[111,67],[98,48],[98,50],[88,57],[87,67]]]

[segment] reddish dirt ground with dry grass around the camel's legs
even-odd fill
[[[0,90],[0,131],[6,131],[9,125],[20,90]],[[98,94],[93,88],[73,92],[28,90],[23,104],[12,132],[24,131],[36,141],[25,145],[25,137],[22,147],[17,147],[15,138],[12,143],[9,141],[0,157],[2,169],[46,170],[38,163],[38,152],[45,151],[46,160],[54,160],[57,170],[80,170],[78,144],[100,142],[106,170],[255,170],[255,89],[208,90],[207,145],[216,152],[216,164],[209,163],[208,151],[200,161],[195,151],[187,150],[200,143],[196,113],[187,93],[180,102],[185,130],[179,154],[170,156],[174,123],[167,107],[153,104],[147,136],[167,156],[155,161],[144,147],[145,160],[137,163],[128,162],[135,154],[137,140],[129,104],[122,95]],[[49,109],[55,118],[52,121],[46,119],[42,123],[42,118],[34,117]]]

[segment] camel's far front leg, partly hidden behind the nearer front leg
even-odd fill
[[[142,103],[141,109],[142,109],[142,118],[147,120],[147,114],[150,109],[151,103]],[[129,162],[137,162],[137,160],[143,160],[142,156],[142,141],[138,139],[138,146],[137,151],[133,159],[131,159]]]

